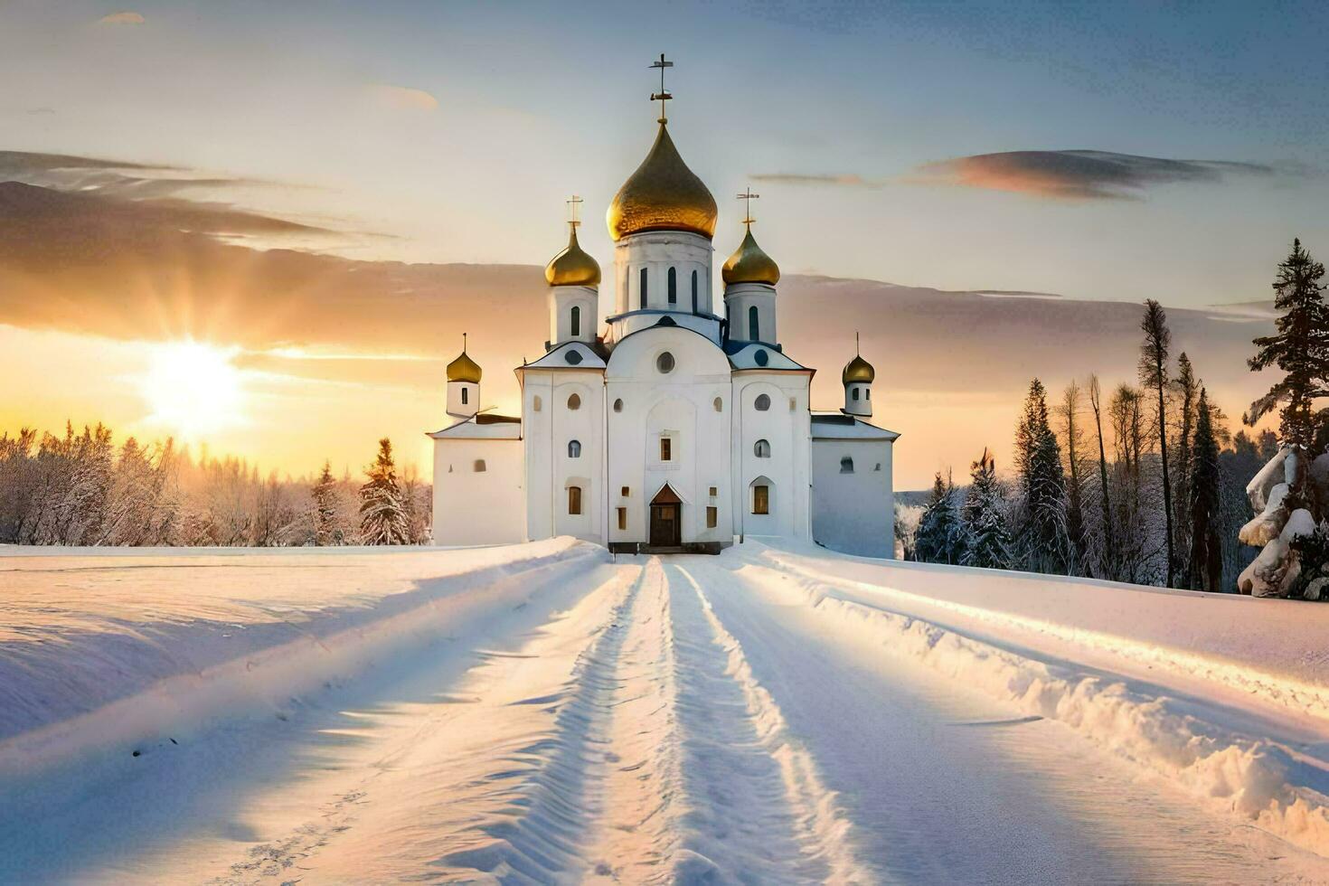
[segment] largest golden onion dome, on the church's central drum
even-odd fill
[[[651,153],[618,189],[605,221],[617,242],[642,231],[690,231],[711,238],[715,218],[715,198],[678,155],[661,122]]]

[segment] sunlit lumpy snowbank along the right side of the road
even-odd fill
[[[759,550],[751,563],[769,570],[773,594],[840,630],[1065,723],[1216,810],[1329,855],[1329,760],[1313,741],[1329,731],[1329,691],[1313,679],[1322,607],[807,550]],[[1146,672],[1209,692],[1134,679]],[[1271,736],[1268,721],[1248,719],[1268,708],[1309,728]]]

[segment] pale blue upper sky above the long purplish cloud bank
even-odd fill
[[[1294,234],[1329,250],[1322,4],[19,0],[0,21],[0,149],[262,179],[215,197],[359,258],[542,263],[577,191],[607,263],[662,50],[718,260],[748,183],[785,271],[1203,306],[1264,298]],[[1261,170],[1067,199],[929,166],[1066,149]]]

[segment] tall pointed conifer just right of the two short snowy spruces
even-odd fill
[[[1030,571],[1065,575],[1070,567],[1066,474],[1057,434],[1047,424],[1047,391],[1038,379],[1029,385],[1015,430],[1015,465],[1023,499],[1019,559]]]

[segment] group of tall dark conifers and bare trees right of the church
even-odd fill
[[[1257,573],[1282,595],[1298,595],[1317,578],[1329,587],[1329,410],[1314,408],[1329,396],[1322,276],[1324,266],[1293,240],[1273,282],[1275,335],[1253,341],[1248,368],[1276,367],[1284,376],[1243,424],[1253,428],[1277,412],[1277,433],[1231,433],[1189,356],[1174,360],[1167,312],[1150,299],[1138,377],[1108,392],[1091,375],[1051,404],[1034,379],[1015,429],[1011,474],[999,477],[986,449],[970,468],[968,490],[957,490],[949,472],[938,473],[917,522],[901,521],[906,558],[1236,590],[1257,555],[1251,545],[1269,541],[1248,526],[1252,501],[1264,493],[1249,495],[1247,484],[1265,464],[1296,452],[1302,461],[1289,464],[1301,468],[1288,469],[1288,485],[1269,506],[1281,510],[1269,519],[1277,535],[1301,507],[1308,517],[1296,525],[1314,531],[1284,539],[1265,555],[1269,569]]]

